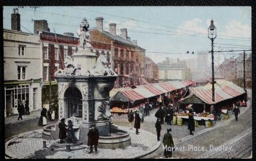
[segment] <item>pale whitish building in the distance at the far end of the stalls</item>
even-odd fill
[[[185,81],[191,79],[191,69],[186,67],[186,61],[179,61],[172,63],[167,58],[165,61],[157,64],[159,82],[166,81]]]

